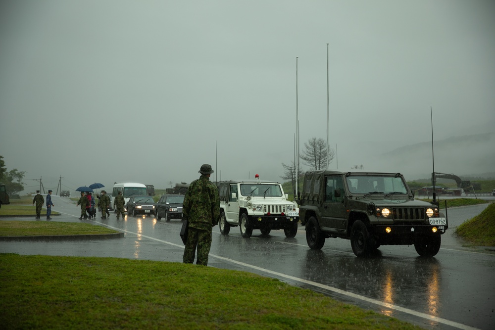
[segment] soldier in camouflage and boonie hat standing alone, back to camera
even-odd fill
[[[207,266],[211,229],[218,224],[220,217],[220,197],[218,189],[209,179],[213,173],[211,165],[201,165],[198,172],[201,176],[191,183],[184,196],[182,213],[189,221],[189,230],[183,260],[185,264],[192,264],[198,247],[196,264]]]

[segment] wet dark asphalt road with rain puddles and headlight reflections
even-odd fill
[[[79,222],[80,209],[53,196],[61,216],[51,221]],[[278,278],[339,300],[373,309],[427,329],[495,329],[495,253],[462,247],[454,227],[480,213],[486,205],[448,210],[449,229],[435,258],[420,258],[414,246],[381,246],[371,258],[356,258],[350,241],[327,239],[310,250],[304,228],[295,238],[283,231],[249,239],[232,228],[222,236],[213,229],[208,266]],[[25,220],[29,218],[1,218]],[[42,221],[43,220],[42,217]],[[0,252],[66,256],[97,256],[182,262],[181,222],[154,217],[125,220],[83,220],[125,233],[124,238],[84,241],[0,242]]]

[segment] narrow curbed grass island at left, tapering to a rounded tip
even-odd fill
[[[0,221],[0,236],[97,235],[119,233],[102,226],[76,222]]]

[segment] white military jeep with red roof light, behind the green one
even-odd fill
[[[220,193],[218,226],[222,235],[239,226],[245,238],[251,237],[253,229],[259,229],[262,235],[268,235],[272,229],[283,229],[285,236],[296,236],[297,203],[287,200],[281,184],[256,179],[216,183]]]

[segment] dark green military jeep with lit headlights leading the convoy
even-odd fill
[[[380,245],[414,245],[432,257],[448,228],[438,203],[415,200],[400,173],[306,172],[299,217],[311,249],[340,237],[358,257]]]

